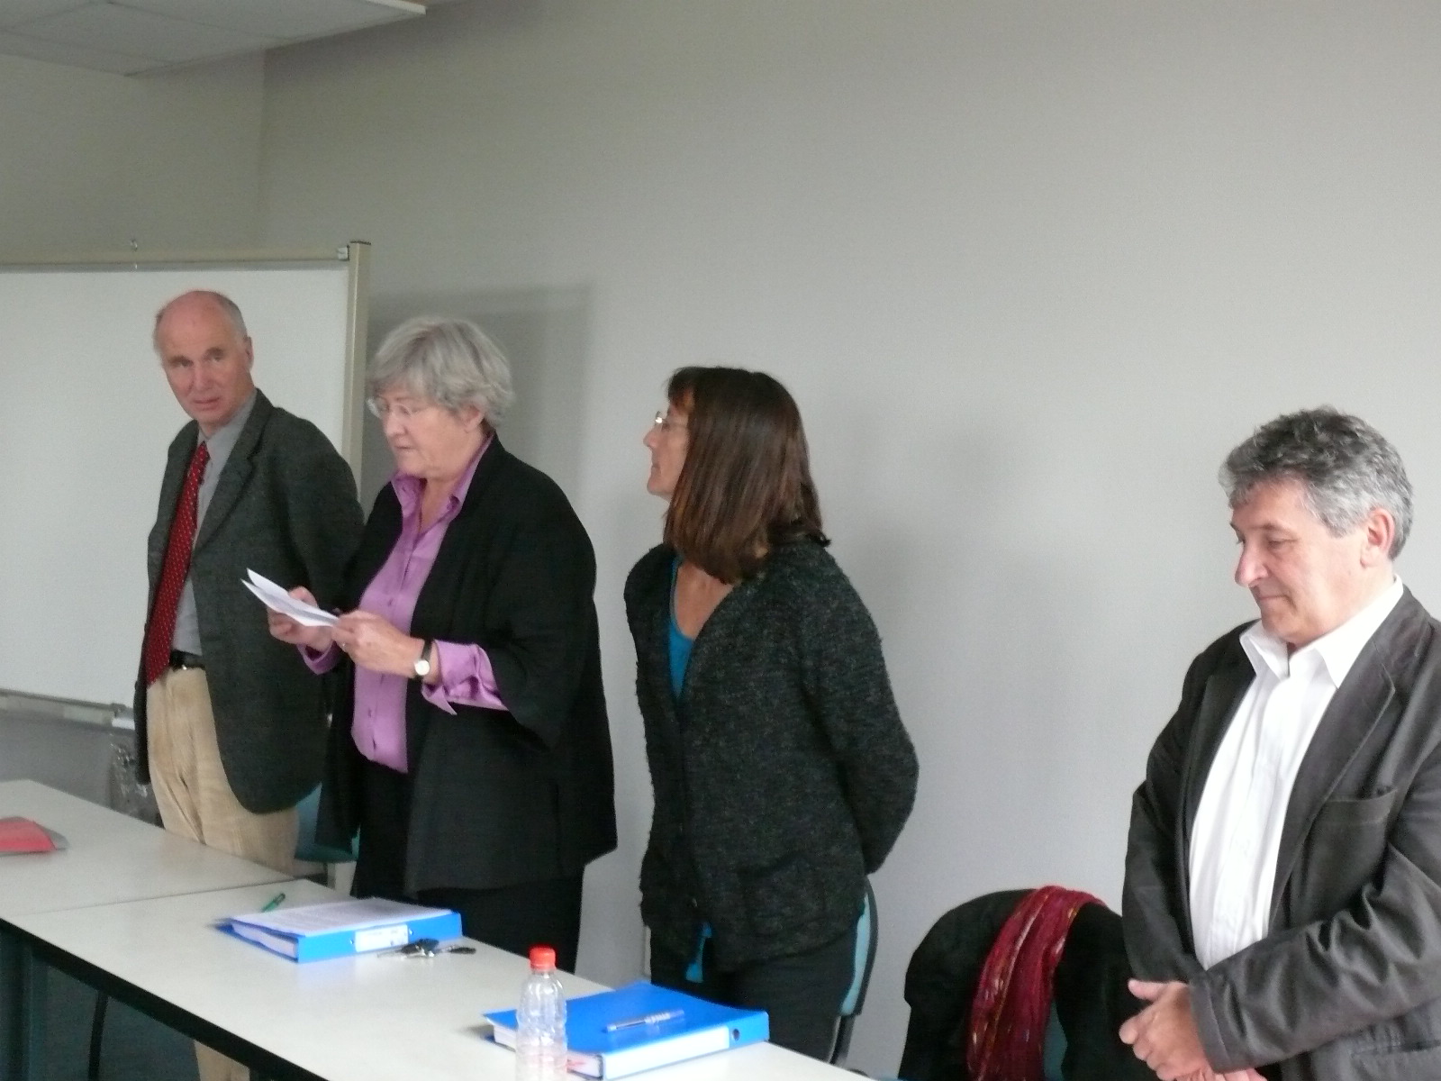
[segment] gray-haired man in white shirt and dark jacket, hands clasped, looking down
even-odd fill
[[[1222,481],[1261,618],[1190,666],[1136,793],[1150,1005],[1121,1038],[1163,1081],[1441,1078],[1441,627],[1392,569],[1405,467],[1311,409]]]

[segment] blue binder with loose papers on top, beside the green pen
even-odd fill
[[[460,938],[460,914],[367,898],[232,915],[218,927],[294,961],[323,961],[419,938]]]

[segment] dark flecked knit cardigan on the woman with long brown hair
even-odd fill
[[[625,582],[656,794],[641,914],[682,956],[709,922],[718,966],[733,970],[855,924],[911,813],[916,758],[880,636],[811,540],[774,549],[716,605],[677,702],[673,561],[656,548]]]

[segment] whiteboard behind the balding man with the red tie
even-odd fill
[[[146,538],[189,421],[150,342],[171,297],[208,288],[239,304],[256,386],[359,476],[367,248],[0,265],[0,689],[131,702]]]

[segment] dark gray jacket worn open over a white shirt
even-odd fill
[[[1136,791],[1123,915],[1137,976],[1190,983],[1216,1069],[1441,1078],[1441,626],[1408,590],[1321,716],[1287,806],[1271,933],[1202,970],[1192,823],[1254,669],[1244,627],[1190,666]]]

